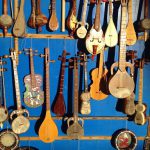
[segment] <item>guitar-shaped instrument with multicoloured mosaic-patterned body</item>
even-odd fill
[[[25,49],[26,54],[30,57],[30,74],[25,76],[24,83],[26,91],[24,92],[24,103],[28,107],[39,107],[44,102],[44,92],[41,90],[42,77],[39,74],[34,73],[33,56],[37,54],[37,51],[33,51],[31,48]]]

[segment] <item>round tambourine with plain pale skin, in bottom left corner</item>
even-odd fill
[[[12,130],[3,130],[0,132],[0,149],[14,150],[18,147],[19,137]]]

